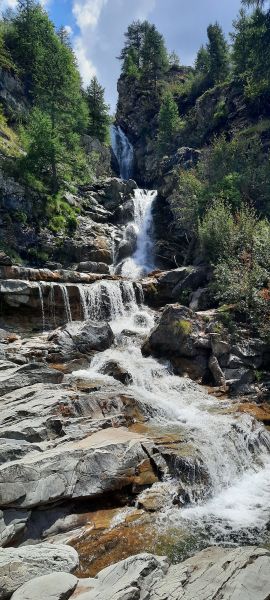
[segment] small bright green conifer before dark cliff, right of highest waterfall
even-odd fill
[[[178,107],[171,92],[166,92],[158,116],[158,147],[161,154],[170,149],[174,135],[179,131],[181,121]]]

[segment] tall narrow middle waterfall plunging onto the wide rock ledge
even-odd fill
[[[152,206],[156,196],[155,190],[137,189],[134,192],[134,220],[127,225],[126,231],[134,227],[136,250],[120,267],[121,275],[130,279],[138,279],[154,269]]]

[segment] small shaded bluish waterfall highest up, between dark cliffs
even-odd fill
[[[130,179],[134,162],[133,147],[119,126],[111,126],[111,145],[119,165],[121,179]]]

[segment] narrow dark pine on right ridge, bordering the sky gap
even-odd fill
[[[218,23],[207,29],[207,49],[210,57],[209,79],[212,85],[224,81],[229,74],[229,51],[223,31]]]

